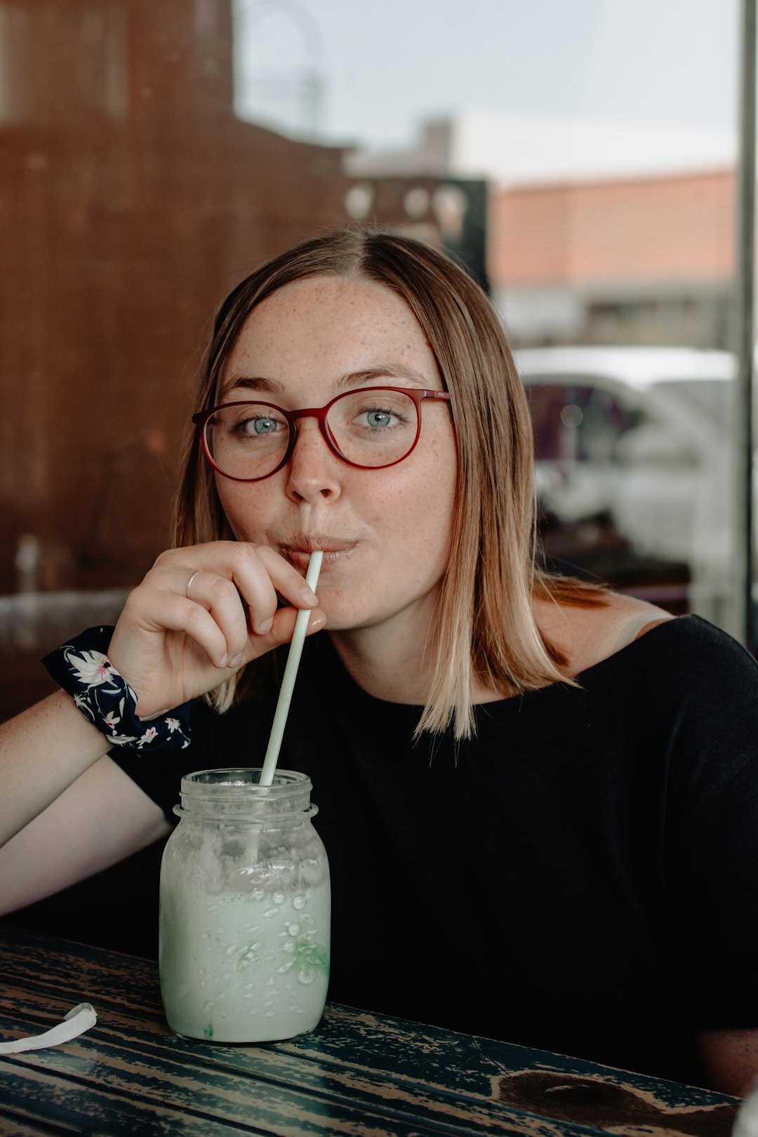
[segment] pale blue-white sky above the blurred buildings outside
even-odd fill
[[[291,133],[394,149],[466,110],[736,131],[739,0],[235,2],[238,113]]]

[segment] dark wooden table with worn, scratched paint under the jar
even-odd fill
[[[97,1026],[0,1056],[0,1134],[523,1134],[727,1137],[738,1099],[520,1046],[328,1004],[288,1043],[176,1038],[158,969],[0,927],[0,1037],[39,1034],[76,1003]]]

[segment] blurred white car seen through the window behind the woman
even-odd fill
[[[734,357],[556,347],[518,351],[516,365],[548,558],[724,624]]]

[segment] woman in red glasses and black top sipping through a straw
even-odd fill
[[[223,306],[201,406],[177,547],[107,648],[138,721],[60,691],[3,728],[6,910],[165,836],[183,772],[260,764],[307,607],[280,766],[320,807],[331,997],[747,1087],[757,667],[535,570],[528,408],[483,293],[407,238],[307,242]]]

